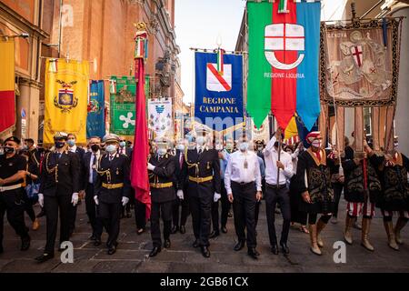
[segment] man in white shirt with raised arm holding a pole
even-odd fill
[[[293,160],[288,153],[285,153],[277,138],[283,134],[281,129],[278,129],[273,138],[264,148],[265,161],[265,210],[267,215],[268,235],[270,236],[271,251],[274,255],[278,255],[277,237],[275,235],[274,226],[274,209],[278,203],[283,215],[283,230],[281,233],[280,246],[284,254],[289,254],[290,250],[287,246],[288,232],[290,230],[290,196],[286,186],[287,179],[293,175]],[[280,147],[280,155],[278,149]],[[277,181],[278,176],[278,181]]]

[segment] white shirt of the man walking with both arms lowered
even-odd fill
[[[244,161],[247,161],[247,168],[244,168]],[[237,183],[255,182],[257,191],[262,191],[260,165],[254,152],[236,151],[230,155],[224,172],[224,187],[227,194],[232,194],[231,181]]]

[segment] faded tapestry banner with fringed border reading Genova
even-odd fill
[[[322,25],[321,99],[327,104],[394,105],[401,20]]]

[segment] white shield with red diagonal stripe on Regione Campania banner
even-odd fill
[[[206,66],[206,89],[215,92],[232,90],[232,65],[223,65],[224,74],[216,69],[217,64],[208,63]]]

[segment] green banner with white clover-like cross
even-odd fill
[[[133,76],[110,79],[110,132],[115,135],[135,134],[135,92]]]

